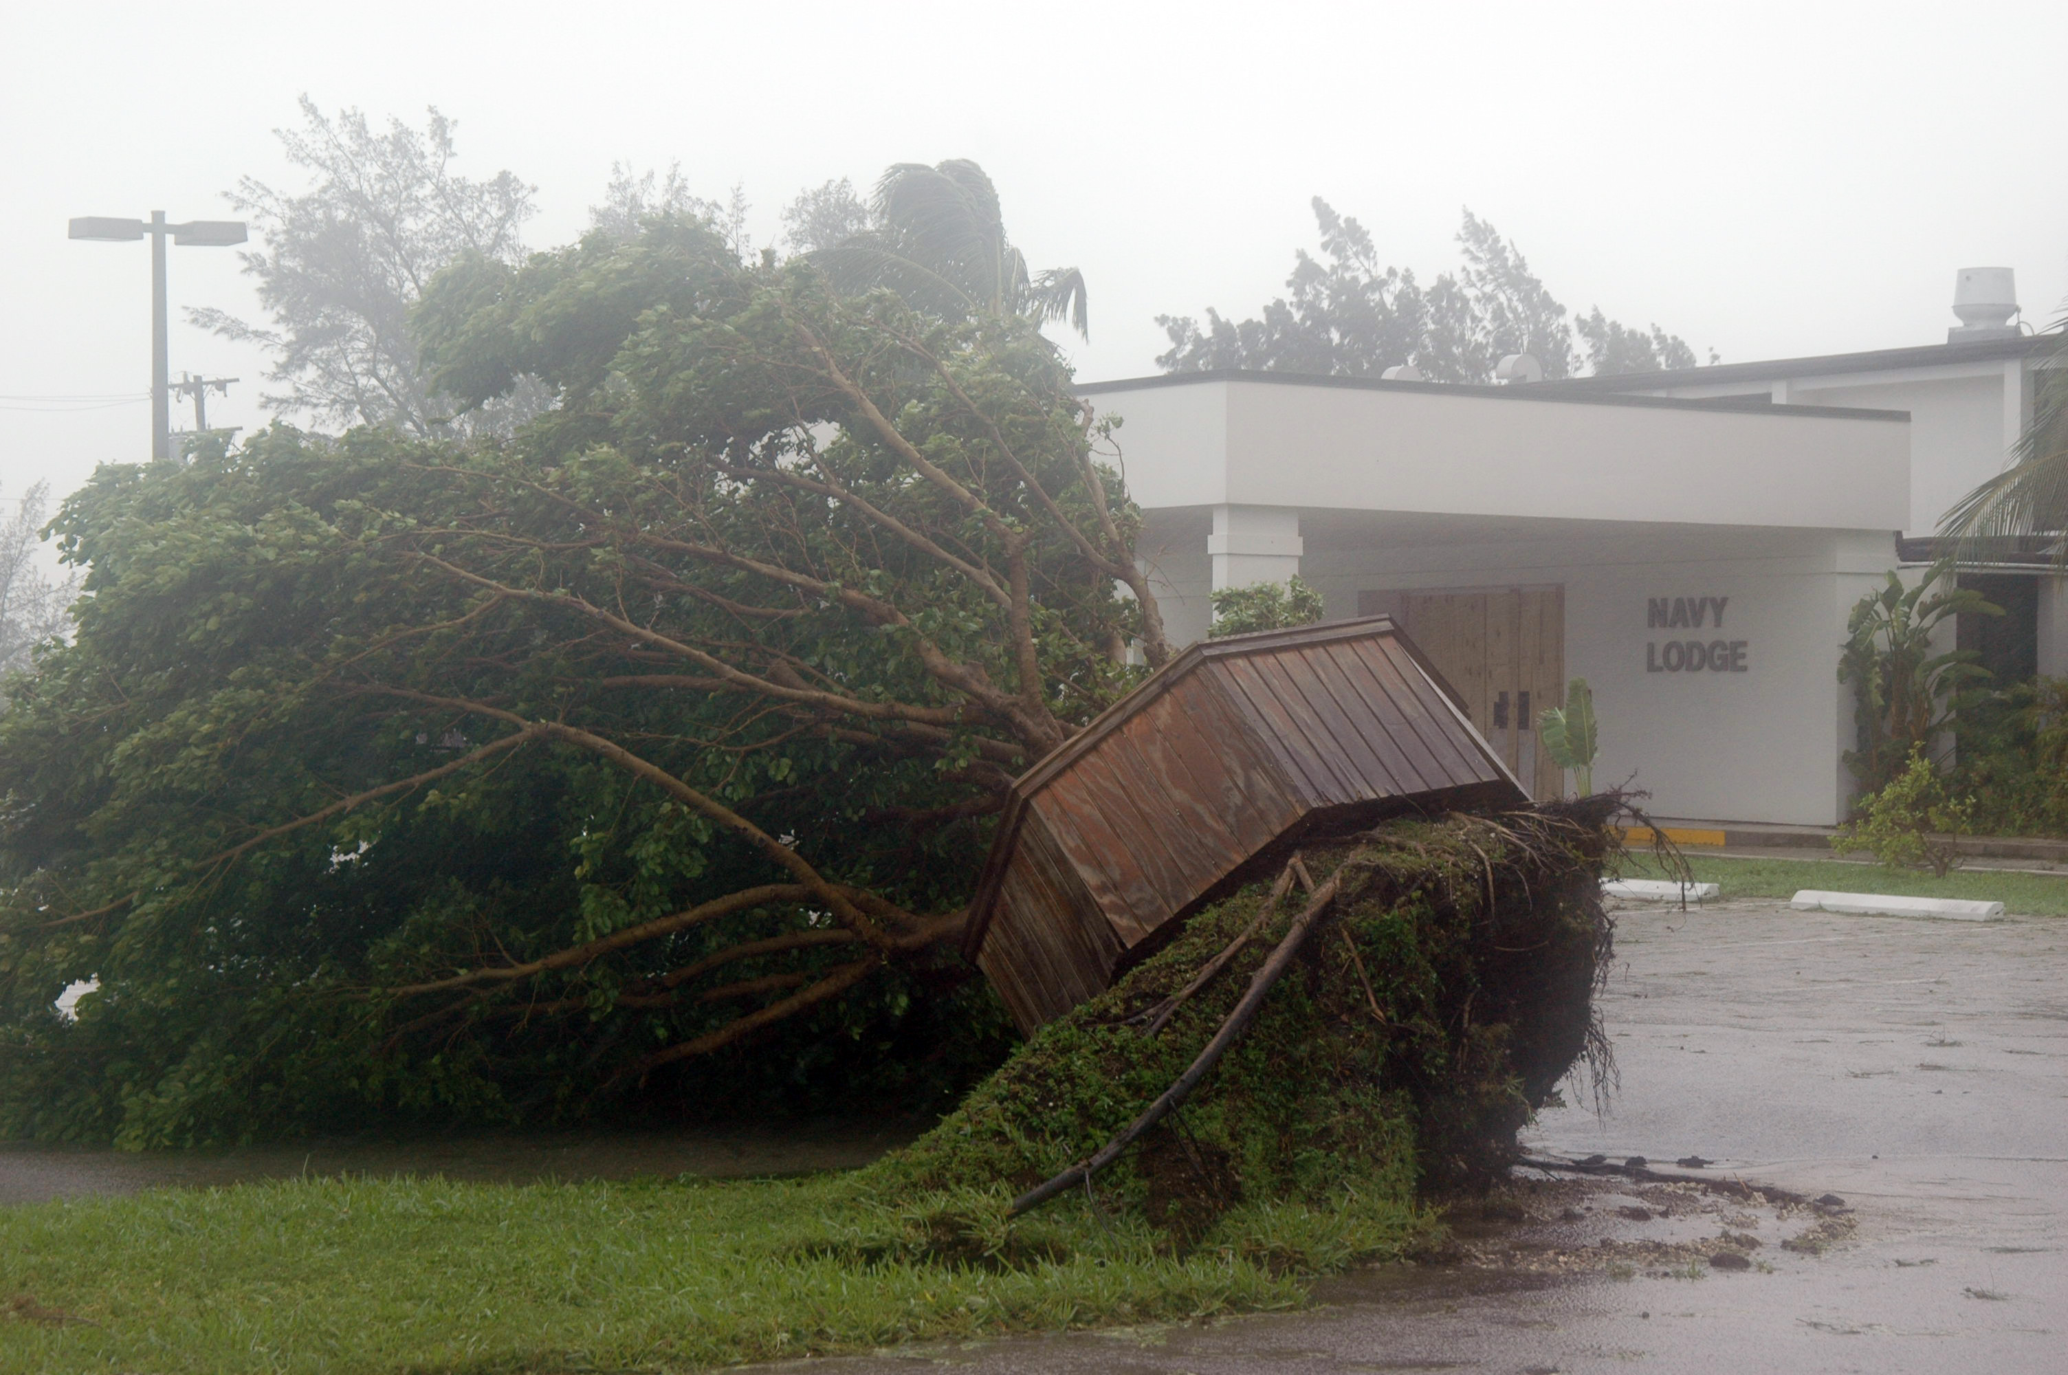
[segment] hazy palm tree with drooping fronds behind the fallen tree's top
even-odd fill
[[[999,190],[968,157],[893,163],[871,203],[875,227],[813,252],[846,289],[889,287],[935,314],[1069,320],[1090,339],[1084,273],[1028,271],[1005,236]]]

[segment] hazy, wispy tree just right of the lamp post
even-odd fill
[[[453,418],[424,370],[409,312],[430,279],[461,254],[523,256],[531,186],[513,172],[474,180],[453,170],[455,124],[436,110],[422,130],[389,120],[374,130],[358,110],[335,118],[302,97],[302,128],[275,130],[300,190],[244,178],[230,203],[252,219],[261,246],[244,252],[273,323],[190,310],[203,329],[273,354],[269,405],[316,424],[378,424],[438,432]],[[513,393],[467,428],[509,428],[540,405]]]

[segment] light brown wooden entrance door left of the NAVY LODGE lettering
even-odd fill
[[[1565,780],[1539,748],[1537,717],[1565,701],[1565,589],[1361,591],[1359,614],[1390,612],[1464,697],[1464,709],[1539,798]]]

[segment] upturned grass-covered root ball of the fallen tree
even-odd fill
[[[1290,1245],[1286,1263],[1307,1267],[1398,1249],[1417,1197],[1501,1174],[1568,1069],[1586,1059],[1596,1083],[1609,1069],[1592,995],[1617,808],[1586,798],[1309,842],[1288,870],[1334,879],[1336,899],[1299,964],[1199,1090],[1075,1189],[1077,1205],[1179,1253]],[[1193,916],[856,1183],[902,1201],[916,1251],[1042,1255],[1032,1220],[1007,1222],[1009,1199],[1088,1160],[1193,1063],[1307,906],[1282,889],[1251,885]],[[1301,1241],[1315,1228],[1328,1236]]]

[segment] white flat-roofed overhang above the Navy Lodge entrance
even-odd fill
[[[1270,372],[1079,389],[1146,509],[1909,525],[1909,416]]]

